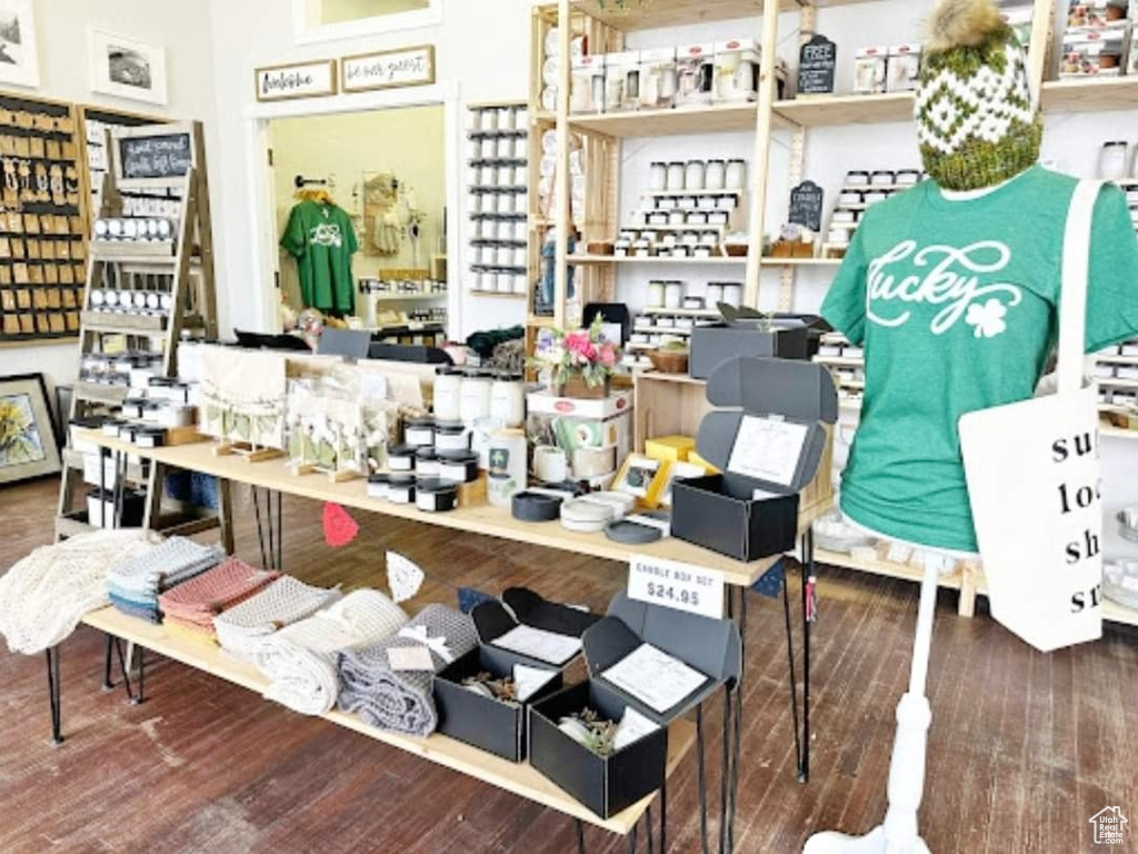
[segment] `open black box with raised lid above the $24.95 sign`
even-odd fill
[[[830,371],[813,362],[742,356],[707,386],[723,408],[700,425],[696,450],[723,474],[677,481],[671,533],[736,560],[794,548],[799,493],[814,479],[838,420]]]

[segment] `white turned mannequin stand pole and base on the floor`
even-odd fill
[[[889,810],[885,821],[867,836],[855,837],[827,831],[807,840],[803,854],[930,854],[917,834],[917,810],[924,793],[925,753],[932,711],[925,697],[932,624],[937,610],[940,567],[935,557],[925,559],[921,582],[917,632],[913,642],[909,690],[897,705],[897,736],[889,765]]]

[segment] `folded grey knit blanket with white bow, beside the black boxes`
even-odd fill
[[[389,649],[423,646],[430,651],[432,670],[391,668]],[[477,646],[470,617],[442,605],[428,605],[396,635],[340,654],[339,707],[358,712],[372,726],[424,738],[438,725],[435,674]]]

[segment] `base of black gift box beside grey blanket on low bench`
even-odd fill
[[[541,665],[541,670],[549,671],[553,678],[518,706],[484,697],[462,687],[462,680],[484,672],[496,679],[511,676],[516,664],[538,666],[509,650],[493,647],[472,649],[447,665],[435,676],[438,731],[510,762],[525,759],[529,705],[561,690],[561,672],[549,665]]]

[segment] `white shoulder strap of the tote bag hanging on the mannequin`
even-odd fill
[[[1071,196],[1063,237],[1063,282],[1059,291],[1059,348],[1056,369],[1059,394],[1082,388],[1087,334],[1087,279],[1090,276],[1090,230],[1102,181],[1079,181]]]

